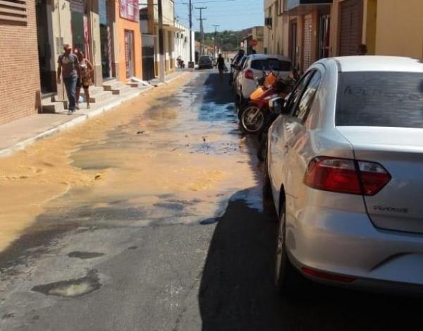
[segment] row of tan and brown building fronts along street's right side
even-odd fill
[[[305,71],[326,56],[423,58],[422,0],[264,0],[264,49]]]

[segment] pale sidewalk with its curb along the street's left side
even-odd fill
[[[166,83],[183,75],[185,71],[175,71],[166,76]],[[116,95],[104,102],[91,104],[91,109],[85,109],[85,104],[75,114],[68,115],[68,112],[58,112],[56,114],[35,114],[32,116],[18,119],[0,126],[0,157],[8,157],[17,150],[23,150],[28,145],[37,140],[52,136],[66,128],[71,128],[77,124],[97,116],[111,109],[118,107],[119,104],[126,102],[142,93],[161,85],[158,80],[150,82],[152,86],[141,88],[131,88],[123,95]]]

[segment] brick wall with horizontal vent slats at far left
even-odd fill
[[[37,114],[40,88],[35,0],[0,4],[0,124]]]

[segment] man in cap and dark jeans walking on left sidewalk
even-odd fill
[[[75,112],[75,92],[76,83],[78,82],[78,56],[73,54],[72,47],[69,44],[64,44],[63,54],[59,56],[57,61],[57,83],[61,83],[61,76],[63,77],[63,83],[66,89],[66,95],[68,95],[68,113]]]

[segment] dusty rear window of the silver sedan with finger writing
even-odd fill
[[[339,73],[336,126],[423,128],[422,73]]]

